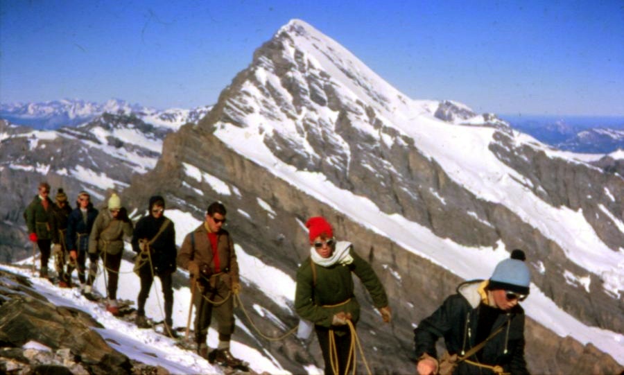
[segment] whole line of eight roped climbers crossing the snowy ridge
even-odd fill
[[[164,295],[165,332],[177,337],[171,317],[171,277],[179,265],[191,277],[198,355],[210,363],[241,365],[242,361],[229,351],[235,327],[232,295],[240,293],[241,282],[232,236],[223,228],[227,214],[223,204],[209,204],[204,222],[185,236],[178,254],[174,224],[164,216],[162,196],[150,198],[148,215],[133,227],[121,199],[114,193],[100,211],[94,209],[86,191],[78,194],[73,211],[62,189],[58,189],[56,202],[52,202],[49,193],[49,184],[40,183],[38,195],[24,213],[33,250],[36,243],[41,253],[40,277],[48,277],[52,247],[59,286],[71,287],[71,273],[78,269],[80,288],[88,295],[92,293],[98,258],[101,258],[107,275],[107,310],[116,314],[123,238],[131,236],[132,250],[138,254],[135,272],[141,282],[137,326],[149,326],[145,304],[157,276]],[[307,340],[314,329],[325,374],[355,373],[354,342],[358,340],[355,326],[360,305],[354,295],[352,274],[368,290],[383,322],[392,319],[388,296],[370,264],[358,256],[352,243],[336,240],[327,220],[313,217],[306,227],[310,256],[297,270],[295,311],[300,316],[297,335]],[[85,278],[87,256],[90,264]],[[442,306],[417,325],[414,330],[417,374],[528,374],[524,358],[525,317],[519,305],[529,293],[530,271],[525,260],[522,250],[514,250],[510,259],[496,265],[492,277],[460,284],[456,294],[447,297]],[[213,315],[219,341],[216,349],[210,351],[206,340]],[[189,321],[190,317],[191,311]],[[435,347],[439,338],[444,339],[447,348],[440,360]],[[370,374],[370,369],[367,371]]]

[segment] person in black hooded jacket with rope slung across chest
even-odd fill
[[[132,234],[132,250],[140,257],[135,272],[141,279],[141,290],[137,297],[136,324],[139,328],[148,328],[145,317],[145,302],[150,295],[154,276],[160,278],[164,295],[164,329],[172,338],[177,337],[173,329],[173,285],[171,275],[175,272],[175,228],[173,222],[164,216],[165,202],[160,195],[150,198],[148,215],[140,218]]]

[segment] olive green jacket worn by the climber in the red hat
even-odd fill
[[[316,280],[310,257],[300,265],[297,270],[295,311],[302,319],[329,328],[333,315],[344,311],[351,313],[352,322],[358,322],[360,304],[354,296],[352,272],[360,278],[376,308],[388,306],[388,296],[370,264],[358,256],[350,244],[347,245],[351,247],[349,254],[353,258],[352,263],[329,267],[314,264]]]

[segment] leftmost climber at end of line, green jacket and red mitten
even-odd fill
[[[49,194],[50,185],[47,182],[41,182],[37,195],[31,204],[28,204],[25,212],[28,238],[33,244],[37,244],[41,253],[39,276],[46,278],[48,277],[48,262],[52,243],[58,243],[58,231],[54,218],[55,204],[50,199]],[[33,259],[34,261],[35,259]]]

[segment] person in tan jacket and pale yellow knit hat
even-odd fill
[[[128,211],[121,206],[121,198],[112,193],[107,207],[98,213],[89,235],[89,278],[85,286],[85,294],[88,297],[92,293],[93,282],[98,273],[98,256],[101,256],[104,265],[103,273],[107,275],[106,309],[113,315],[119,314],[117,283],[123,255],[123,238],[132,236],[132,228]]]

